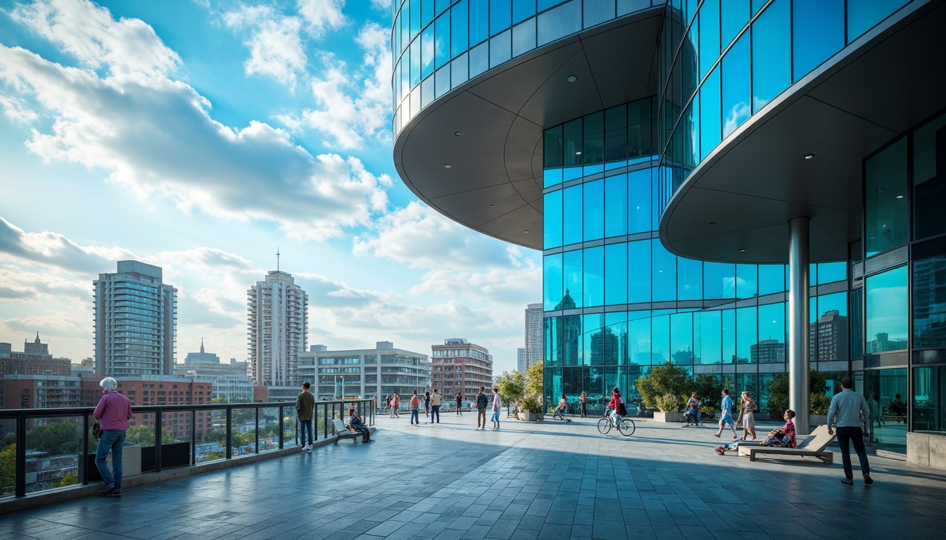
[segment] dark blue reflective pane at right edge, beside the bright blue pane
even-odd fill
[[[913,262],[913,346],[946,346],[946,255]]]

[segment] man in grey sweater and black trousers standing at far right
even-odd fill
[[[864,430],[861,429],[862,423],[870,418],[870,409],[864,396],[854,392],[853,388],[850,377],[841,379],[841,392],[834,394],[831,408],[828,409],[828,434],[833,435],[832,427],[837,427],[837,445],[841,448],[841,461],[844,462],[844,479],[841,483],[854,483],[854,473],[850,468],[850,444],[854,444],[857,459],[861,461],[864,483],[870,485],[874,480],[870,478],[870,464],[867,463],[867,452],[864,450]]]

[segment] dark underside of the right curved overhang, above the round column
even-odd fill
[[[847,260],[862,237],[863,160],[946,107],[944,4],[901,9],[730,134],[674,193],[663,245],[784,264],[788,221],[807,216],[811,260]]]

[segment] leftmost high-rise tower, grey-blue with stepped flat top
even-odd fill
[[[170,375],[177,337],[177,289],[162,270],[118,261],[94,282],[96,373]]]

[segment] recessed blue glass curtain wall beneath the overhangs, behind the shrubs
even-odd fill
[[[634,400],[639,376],[668,360],[764,407],[787,369],[784,265],[704,263],[660,244],[656,117],[648,98],[545,131],[547,408],[584,391],[604,412],[610,389]],[[849,369],[846,269],[811,268],[812,285],[834,291],[813,298],[815,369]]]

